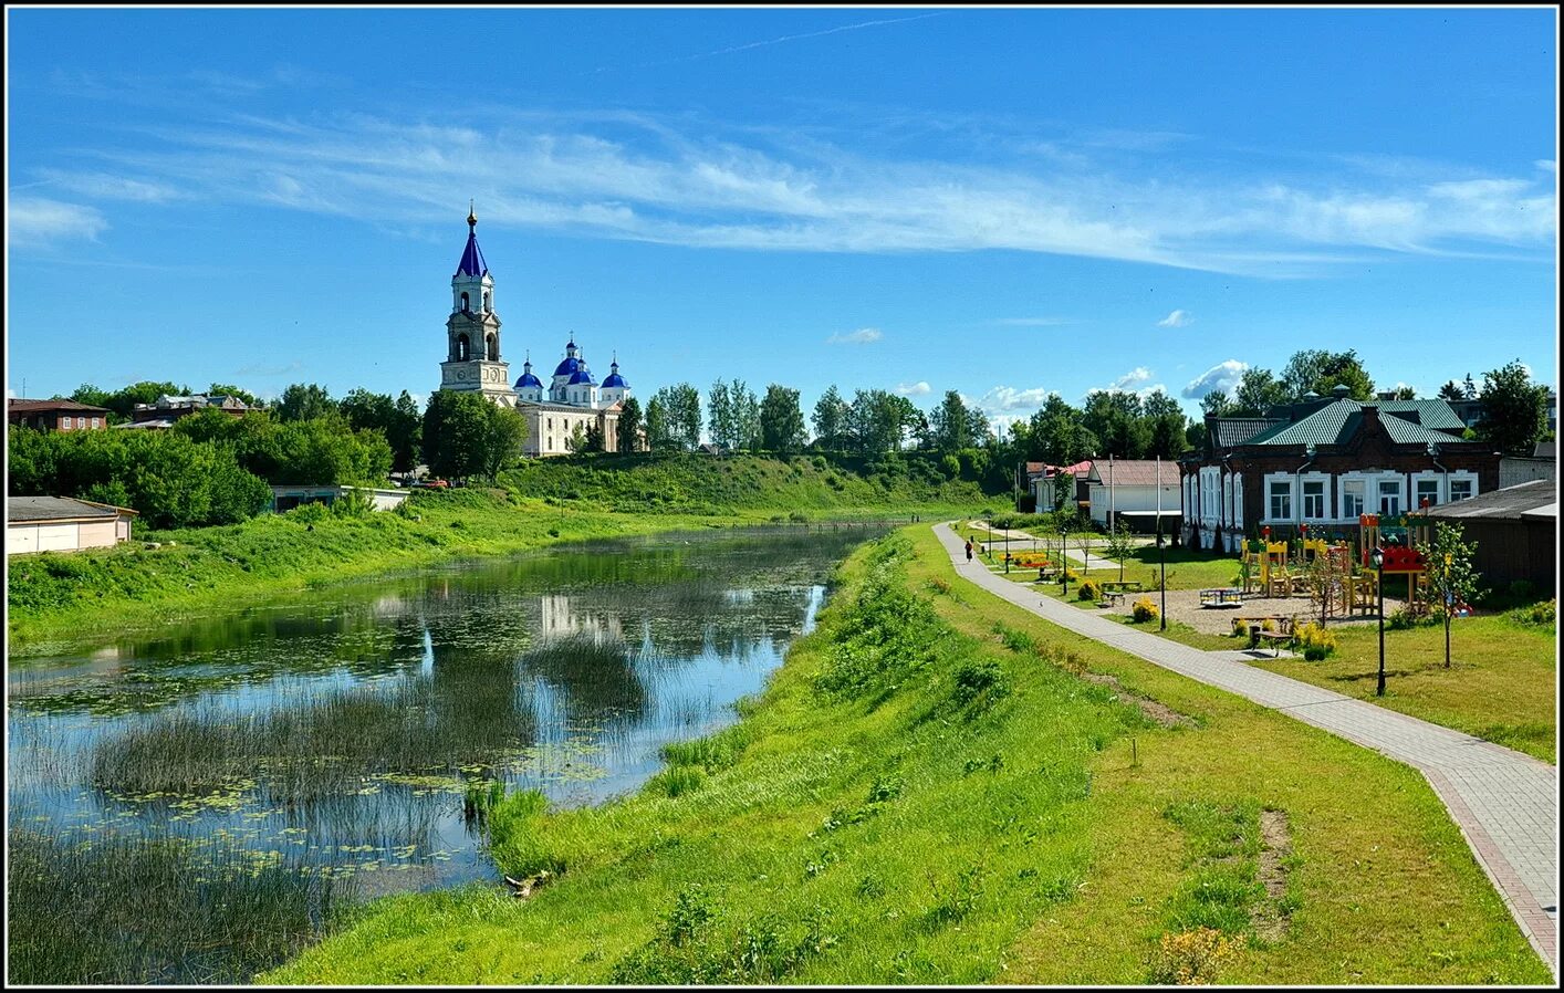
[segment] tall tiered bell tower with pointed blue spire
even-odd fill
[[[500,360],[499,316],[494,313],[494,277],[479,249],[479,217],[468,206],[468,246],[450,277],[450,317],[446,319],[446,361],[439,388],[482,393],[500,407],[516,405],[510,364]]]

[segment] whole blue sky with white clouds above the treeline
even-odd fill
[[[1556,385],[1519,9],[6,9],[6,386],[425,397],[504,358],[996,419],[1356,349]]]

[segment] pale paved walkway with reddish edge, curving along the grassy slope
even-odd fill
[[[1082,636],[1281,710],[1304,724],[1404,762],[1428,777],[1533,948],[1558,977],[1558,769],[1530,755],[1340,693],[1082,613],[967,561],[963,540],[934,525],[956,571],[984,590]]]

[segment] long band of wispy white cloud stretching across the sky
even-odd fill
[[[1035,156],[1012,166],[898,160],[881,152],[891,141],[851,150],[801,131],[723,131],[619,111],[490,109],[472,117],[491,122],[483,127],[228,114],[222,127],[153,131],[147,150],[105,152],[109,170],[94,161],[48,175],[105,200],[178,191],[383,228],[446,219],[450,191],[463,189],[479,197],[485,224],[596,238],[755,252],[1004,249],[1265,277],[1306,277],[1386,252],[1509,250],[1544,261],[1556,239],[1556,174],[1533,163],[1523,177],[1383,174],[1331,160],[1315,175],[1292,169],[1286,181],[1167,180],[1153,169],[1173,136],[1118,136],[1145,152],[1112,167],[1038,167]]]

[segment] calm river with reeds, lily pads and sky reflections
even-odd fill
[[[561,546],[14,666],[11,979],[242,980],[333,899],[499,882],[488,798],[602,802],[735,721],[868,533]]]

